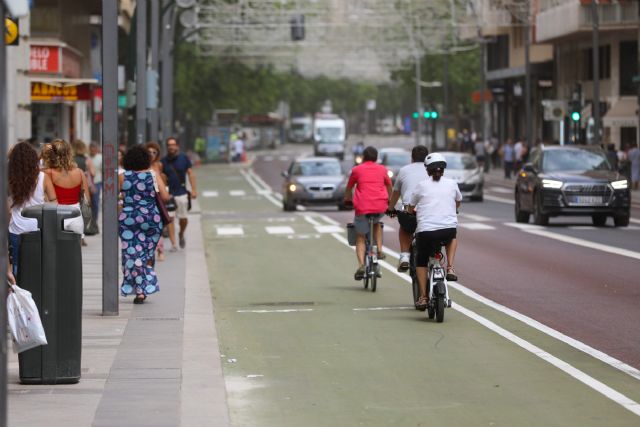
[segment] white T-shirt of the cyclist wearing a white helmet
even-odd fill
[[[456,228],[456,202],[461,200],[458,184],[452,179],[442,177],[440,181],[427,179],[420,182],[411,196],[411,205],[416,208],[418,220],[416,233]]]

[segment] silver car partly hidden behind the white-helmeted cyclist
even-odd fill
[[[441,152],[447,160],[444,176],[458,183],[462,197],[481,202],[484,199],[484,172],[474,156],[454,151]]]

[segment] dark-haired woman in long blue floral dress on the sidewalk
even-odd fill
[[[149,153],[141,145],[130,148],[122,159],[125,172],[118,176],[121,210],[118,215],[122,251],[122,296],[135,295],[142,304],[147,295],[160,290],[153,269],[155,251],[162,238],[162,218],[156,192],[163,200],[170,196],[151,169]]]

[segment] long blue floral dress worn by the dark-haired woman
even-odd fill
[[[153,271],[154,253],[162,235],[151,172],[124,172],[123,208],[118,216],[124,278],[122,296],[148,295],[160,290]]]

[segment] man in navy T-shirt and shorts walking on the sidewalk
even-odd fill
[[[184,249],[186,245],[184,233],[189,222],[188,211],[191,203],[190,199],[198,197],[198,193],[196,191],[196,177],[192,170],[191,161],[187,156],[180,153],[180,146],[175,137],[167,138],[167,155],[162,159],[162,168],[167,175],[169,193],[176,201],[174,215],[180,222],[178,238],[180,248]],[[187,175],[189,176],[191,191],[187,190]],[[171,249],[169,249],[169,251],[177,251],[174,222],[169,223],[169,240],[171,240]]]

